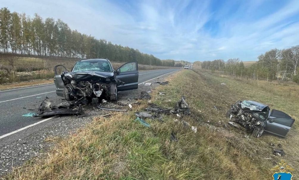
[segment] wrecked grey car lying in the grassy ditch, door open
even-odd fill
[[[270,110],[269,106],[251,100],[237,101],[231,105],[227,117],[260,137],[263,132],[285,138],[295,122],[291,116],[278,110]]]

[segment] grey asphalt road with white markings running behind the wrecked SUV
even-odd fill
[[[155,77],[177,71],[178,69],[163,69],[139,72],[138,83],[143,83]],[[41,121],[41,118],[22,117],[37,108],[41,101],[48,97],[50,100],[61,100],[55,93],[55,85],[32,86],[30,88],[0,91],[0,136]],[[37,125],[38,126],[38,125]]]

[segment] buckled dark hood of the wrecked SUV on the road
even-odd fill
[[[99,78],[113,77],[114,73],[100,71],[76,71],[65,73],[64,76],[70,80],[94,81]]]

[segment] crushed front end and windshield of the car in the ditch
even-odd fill
[[[264,132],[269,111],[270,108],[267,105],[256,101],[243,100],[231,105],[227,117],[253,132],[253,135],[258,138]]]

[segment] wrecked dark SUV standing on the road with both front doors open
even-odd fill
[[[62,68],[62,73],[57,68]],[[138,89],[137,62],[127,62],[115,71],[107,59],[80,60],[70,72],[63,65],[55,66],[54,71],[56,94],[67,101],[97,103],[100,97],[113,101],[118,91]]]

